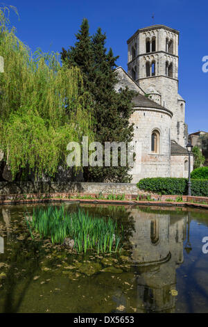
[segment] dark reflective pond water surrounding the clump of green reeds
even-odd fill
[[[207,211],[66,202],[123,225],[121,253],[83,255],[31,239],[24,213],[46,206],[0,207],[0,312],[208,312]]]

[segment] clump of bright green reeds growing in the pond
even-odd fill
[[[73,239],[78,253],[96,250],[97,253],[116,252],[121,250],[123,226],[118,227],[112,218],[94,218],[88,213],[67,212],[64,207],[33,209],[31,219],[25,215],[28,229],[42,238],[50,238],[53,244],[62,244],[66,237]]]

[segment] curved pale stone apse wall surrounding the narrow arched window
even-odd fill
[[[132,183],[146,177],[170,176],[171,116],[157,109],[135,109],[130,118],[134,123],[134,139],[140,145],[134,168],[130,171]],[[160,134],[159,154],[151,152],[151,135],[154,129]]]

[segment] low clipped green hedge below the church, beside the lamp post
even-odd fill
[[[137,183],[138,189],[172,196],[187,195],[187,178],[144,178]],[[208,180],[191,180],[192,196],[208,196]]]

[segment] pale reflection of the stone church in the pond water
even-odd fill
[[[184,216],[131,209],[132,260],[137,267],[137,312],[174,312],[176,269],[183,262]]]

